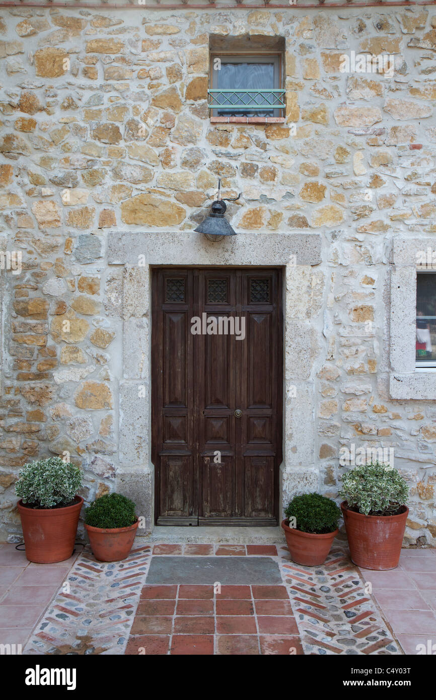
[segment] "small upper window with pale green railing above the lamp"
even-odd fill
[[[281,59],[279,53],[211,53],[211,116],[282,117]]]

